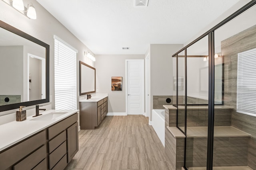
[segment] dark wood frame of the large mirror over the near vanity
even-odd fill
[[[25,39],[28,39],[29,41],[32,41],[38,45],[41,45],[42,47],[46,48],[46,98],[42,100],[34,100],[34,101],[28,101],[28,102],[21,102],[21,103],[15,103],[15,104],[8,104],[0,106],[0,111],[6,111],[6,110],[12,110],[17,109],[19,106],[32,106],[36,104],[42,104],[49,102],[49,57],[50,57],[50,45],[36,39],[35,37],[32,37],[31,35],[28,35],[27,33],[24,33],[23,31],[20,31],[19,29],[8,25],[7,23],[0,20],[0,27],[3,29],[6,29],[12,33],[15,33],[16,35],[19,35]]]

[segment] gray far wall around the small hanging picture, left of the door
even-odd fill
[[[108,112],[126,112],[125,60],[144,59],[145,55],[95,55],[96,89],[108,93]],[[122,91],[111,91],[111,77],[123,77]]]

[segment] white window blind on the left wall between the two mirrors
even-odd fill
[[[55,109],[76,109],[77,50],[54,36]]]

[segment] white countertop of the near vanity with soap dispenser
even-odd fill
[[[51,119],[49,121],[42,121],[42,120],[34,120],[35,117],[29,116],[24,121],[11,121],[9,123],[5,123],[0,125],[0,151],[4,150],[27,137],[30,137],[43,129],[57,123],[65,119],[66,117],[73,115],[74,113],[78,112],[79,110],[48,110],[44,112],[40,112],[40,116],[47,115],[48,113],[52,112],[67,112],[55,119]],[[38,117],[40,117],[38,116]],[[37,118],[37,117],[36,117]]]

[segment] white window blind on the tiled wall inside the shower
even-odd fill
[[[238,53],[236,111],[256,116],[256,49]]]

